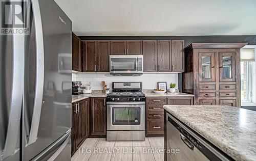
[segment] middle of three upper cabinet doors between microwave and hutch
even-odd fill
[[[172,40],[157,40],[158,71],[172,71]]]

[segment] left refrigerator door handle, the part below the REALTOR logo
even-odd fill
[[[14,154],[16,150],[24,88],[25,37],[24,35],[13,35],[12,38],[12,87],[3,158]]]

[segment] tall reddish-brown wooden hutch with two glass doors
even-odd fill
[[[182,91],[194,104],[241,106],[240,48],[247,43],[192,43],[185,48]]]

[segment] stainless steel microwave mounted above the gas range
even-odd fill
[[[141,75],[143,73],[142,55],[110,56],[110,74]]]

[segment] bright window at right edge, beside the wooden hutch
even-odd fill
[[[249,48],[250,47],[250,48]],[[255,48],[241,49],[241,101],[242,105],[256,105]]]

